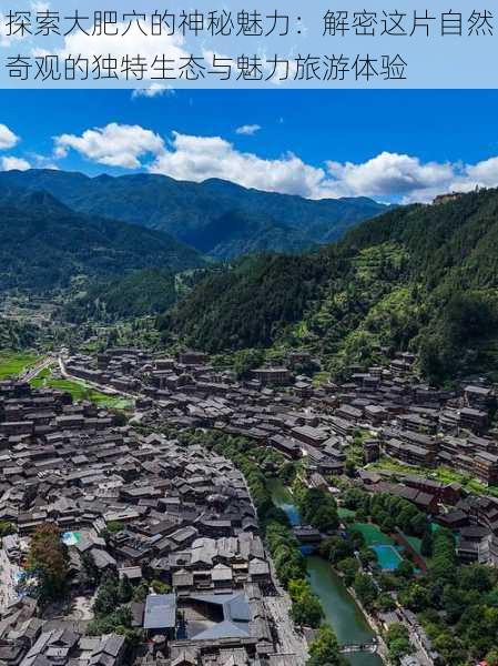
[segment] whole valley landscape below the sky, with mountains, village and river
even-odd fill
[[[494,664],[496,190],[0,192],[9,665]]]

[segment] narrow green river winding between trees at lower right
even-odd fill
[[[268,488],[275,505],[287,514],[293,525],[298,525],[299,513],[288,490],[278,480],[271,480]],[[318,555],[308,555],[306,564],[309,583],[322,602],[326,619],[334,627],[338,642],[344,644],[369,640],[374,632],[329,563]],[[380,657],[370,653],[356,653],[346,657],[352,666],[383,665]]]

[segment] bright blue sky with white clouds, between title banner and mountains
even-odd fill
[[[0,91],[0,167],[380,201],[498,185],[498,91],[154,92]]]

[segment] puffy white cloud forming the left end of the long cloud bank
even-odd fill
[[[70,149],[99,164],[139,169],[142,165],[140,158],[162,152],[164,142],[159,134],[140,125],[112,122],[105,128],[85,130],[80,137],[55,137],[57,158],[64,158]]]

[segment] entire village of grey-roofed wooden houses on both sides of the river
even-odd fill
[[[0,558],[0,662],[128,663],[122,634],[88,634],[99,583],[112,576],[143,593],[130,594],[130,628],[146,638],[134,646],[138,663],[306,662],[305,636],[289,619],[244,475],[228,457],[166,434],[175,431],[217,432],[274,450],[299,463],[308,487],[332,493],[339,505],[336,478],[369,495],[406,500],[458,534],[461,562],[498,566],[492,386],[431,390],[417,380],[415,357],[406,353],[389,367],[353,369],[347,382],[315,386],[295,370],[307,361],[305,352],[291,352],[285,366],[258,367],[238,380],[195,351],[173,359],[138,349],[94,356],[63,350],[61,376],[132,397],[134,411],[125,418],[74,403],[62,391],[1,382],[0,522],[13,528]],[[399,468],[377,467],[383,460]],[[435,480],[431,472],[441,465],[479,480],[484,491]],[[30,594],[37,582],[23,563],[47,523],[57,525],[68,548],[71,594],[70,603],[41,619]],[[293,532],[303,546],[324,538],[309,525]],[[399,619],[414,625],[419,653],[419,660],[405,663],[436,663],[409,612]],[[389,613],[379,620],[388,626]]]

